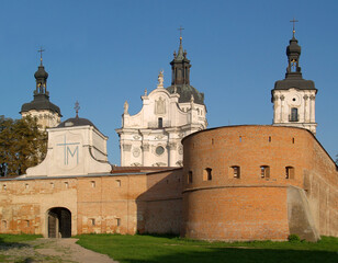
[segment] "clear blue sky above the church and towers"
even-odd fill
[[[179,46],[191,60],[191,84],[205,93],[209,127],[271,124],[271,89],[283,79],[285,48],[296,18],[303,77],[315,81],[317,138],[338,153],[338,1],[92,0],[0,2],[0,115],[20,118],[33,100],[43,46],[50,101],[63,121],[91,119],[110,137],[109,159],[120,164],[123,104],[142,107],[144,90],[165,85]]]

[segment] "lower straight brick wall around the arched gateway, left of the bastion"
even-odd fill
[[[0,232],[48,237],[48,213],[71,215],[80,233],[179,233],[182,169],[0,180]]]

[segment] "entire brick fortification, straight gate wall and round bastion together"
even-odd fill
[[[304,238],[338,237],[337,167],[308,130],[229,126],[182,142],[183,169],[1,179],[0,232],[47,237],[48,211],[64,207],[71,214],[72,236],[170,232],[207,240],[285,240],[290,233],[303,237],[305,229],[312,235]],[[264,178],[262,165],[270,168]],[[292,168],[289,179],[286,167]],[[304,199],[295,202],[290,193]]]

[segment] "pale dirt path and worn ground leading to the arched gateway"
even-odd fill
[[[0,247],[2,262],[68,262],[117,263],[108,255],[87,250],[76,243],[77,239],[36,239],[11,247]]]

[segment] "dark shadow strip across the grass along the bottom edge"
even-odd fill
[[[189,262],[225,262],[225,263],[337,263],[337,252],[306,250],[273,250],[273,249],[238,249],[210,248],[207,251],[187,251],[168,255],[154,256],[147,260],[124,259],[122,263],[189,263]]]

